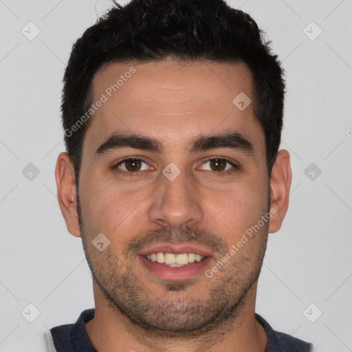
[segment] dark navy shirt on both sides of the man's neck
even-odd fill
[[[85,323],[94,318],[94,309],[87,309],[80,314],[76,324],[53,327],[52,340],[57,352],[98,352],[89,340]],[[265,352],[309,352],[311,344],[293,338],[285,333],[274,331],[259,314],[258,320],[267,334]]]

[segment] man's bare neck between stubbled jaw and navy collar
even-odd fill
[[[86,329],[99,352],[265,351],[267,336],[254,314],[256,283],[237,307],[234,318],[206,332],[182,337],[166,336],[135,325],[104,297],[95,281],[94,298],[95,316],[87,322]]]

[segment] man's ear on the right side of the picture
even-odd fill
[[[272,218],[270,219],[270,233],[276,232],[281,228],[289,206],[291,181],[292,172],[289,164],[289,152],[283,149],[278,152],[270,177],[270,209],[274,208],[276,210],[276,212],[272,212]]]

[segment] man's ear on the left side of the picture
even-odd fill
[[[67,230],[74,236],[80,237],[74,166],[67,153],[58,155],[55,178],[58,192],[58,204],[65,219]]]

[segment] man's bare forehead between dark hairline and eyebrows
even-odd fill
[[[85,140],[94,148],[116,132],[140,133],[167,146],[195,135],[238,131],[256,135],[254,144],[264,148],[253,104],[241,110],[233,102],[243,94],[254,101],[244,63],[109,63],[94,76],[91,101],[104,102]]]

